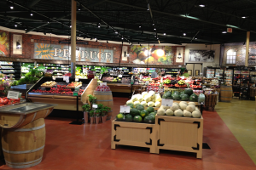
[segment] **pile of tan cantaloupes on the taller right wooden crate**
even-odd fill
[[[160,109],[157,111],[158,116],[185,116],[185,117],[195,117],[200,118],[201,112],[197,107],[195,107],[194,102],[181,101],[178,103],[173,103],[171,107],[161,105]]]

